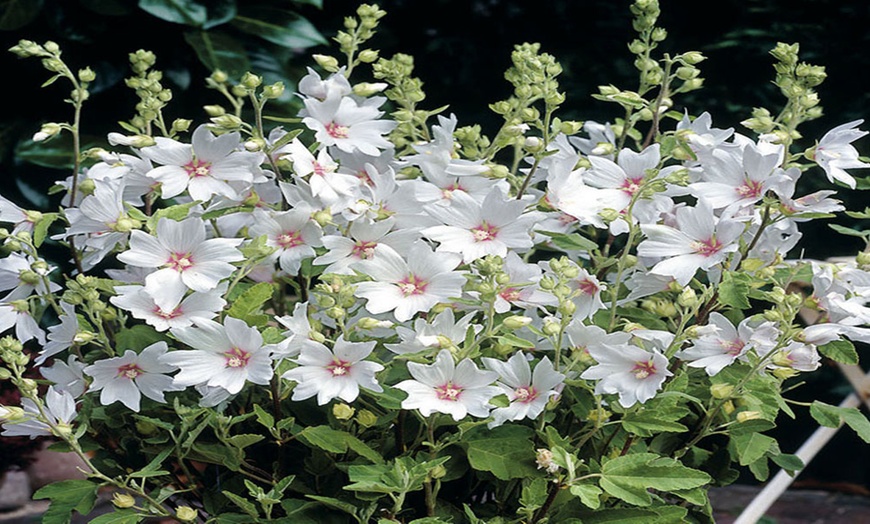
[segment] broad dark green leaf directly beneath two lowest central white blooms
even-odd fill
[[[489,471],[501,480],[536,477],[534,431],[525,426],[478,426],[463,441],[468,462],[478,471]]]

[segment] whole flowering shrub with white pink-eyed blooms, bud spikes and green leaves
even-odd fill
[[[59,209],[0,208],[2,373],[23,397],[3,434],[91,469],[35,494],[45,522],[101,487],[97,523],[710,522],[740,468],[801,469],[765,434],[782,413],[870,441],[858,410],[786,396],[870,341],[870,257],[790,257],[866,185],[862,122],[796,150],[825,73],[787,44],[786,102],[750,134],[677,110],[704,57],[657,56],[657,2],[631,10],[639,85],[595,95],[619,118],[558,118],[559,64],[523,44],[492,136],[366,47],[373,5],[342,59],[314,57],[297,115],[269,112],[281,84],[216,71],[226,107],[169,122],[155,57],[132,53],[140,101],[108,149],[78,150],[94,74],[15,46],[75,109],[34,136],[77,145]]]

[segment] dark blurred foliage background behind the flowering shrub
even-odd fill
[[[124,84],[130,75],[128,54],[138,49],[157,56],[155,69],[174,98],[167,118],[207,119],[202,107],[221,103],[205,79],[220,68],[231,78],[246,71],[265,82],[284,82],[285,96],[278,109],[294,116],[296,81],[313,65],[311,54],[337,53],[330,45],[345,16],[359,1],[350,0],[0,0],[0,45],[3,50],[19,39],[57,42],[67,63],[76,70],[90,67],[97,74],[85,107],[86,146],[108,147],[106,134],[121,131],[119,121],[132,116],[137,98]],[[375,2],[369,2],[375,3]],[[415,76],[423,81],[424,109],[448,105],[459,125],[480,124],[494,133],[500,122],[488,105],[505,99],[510,85],[504,72],[513,46],[539,42],[541,52],[556,57],[564,72],[567,93],[563,119],[607,122],[619,113],[595,101],[597,86],[613,84],[634,89],[637,83],[632,55],[634,37],[631,0],[382,0],[387,11],[371,42],[382,57],[404,53],[415,58]],[[675,108],[690,114],[708,111],[719,128],[733,127],[749,134],[740,122],[754,107],[777,113],[784,101],[772,84],[777,42],[799,43],[802,61],[825,66],[828,78],[817,91],[824,116],[802,129],[804,147],[812,139],[845,122],[870,115],[870,2],[866,0],[660,0],[659,26],[669,36],[659,51],[701,51],[705,87],[675,100]],[[0,111],[0,193],[26,208],[56,206],[47,188],[68,176],[70,156],[62,140],[34,147],[30,137],[41,124],[71,119],[69,94],[61,82],[41,88],[48,79],[36,60],[20,60],[0,53],[4,73]],[[365,78],[365,68],[359,81]],[[862,128],[867,129],[864,125]],[[861,151],[870,150],[862,139]],[[61,168],[61,170],[58,170]],[[859,178],[866,177],[859,171]],[[802,179],[810,192],[829,187],[820,171]],[[865,181],[864,186],[868,186]],[[850,209],[870,205],[866,191],[842,191]],[[864,247],[858,237],[831,230],[837,223],[868,229],[866,221],[848,217],[806,224],[805,254],[814,258],[854,254]],[[814,395],[833,404],[848,391],[835,370],[815,374]],[[811,427],[783,421],[784,449],[802,442]],[[870,450],[852,442],[850,433],[812,464],[822,478],[848,480],[870,486],[868,468],[842,468],[842,456],[870,463]],[[826,457],[826,454],[828,455]]]

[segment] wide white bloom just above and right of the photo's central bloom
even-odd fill
[[[497,187],[483,202],[456,193],[449,206],[426,206],[426,212],[443,225],[421,232],[438,242],[437,251],[460,253],[465,263],[487,255],[505,257],[508,249],[522,252],[534,245],[531,230],[540,217],[524,213],[525,208],[524,201],[507,198]]]

